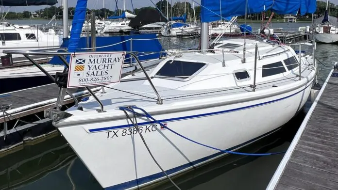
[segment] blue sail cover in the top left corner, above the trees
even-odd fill
[[[57,0],[1,0],[1,6],[36,6],[36,5],[54,5]]]

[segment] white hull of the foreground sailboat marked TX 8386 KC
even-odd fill
[[[314,74],[280,95],[198,110],[153,115],[174,131],[199,143],[232,150],[286,124],[305,104]],[[178,174],[224,155],[138,118],[153,156],[168,174]],[[165,176],[126,119],[58,127],[103,188],[130,189]]]

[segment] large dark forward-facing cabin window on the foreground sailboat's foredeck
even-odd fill
[[[155,77],[168,78],[174,80],[188,80],[192,75],[196,75],[206,67],[205,63],[183,62],[171,60],[165,63],[156,73]]]

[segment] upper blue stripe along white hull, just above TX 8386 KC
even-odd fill
[[[270,104],[273,102],[277,102],[283,99],[287,99],[288,97],[291,97],[293,95],[297,95],[300,92],[303,92],[307,87],[309,87],[312,83],[310,83],[308,86],[306,86],[304,89],[302,89],[299,92],[296,92],[292,95],[288,95],[279,99],[275,99],[275,100],[271,100],[268,102],[263,102],[263,103],[259,103],[259,104],[254,104],[251,106],[245,106],[245,107],[241,107],[241,108],[235,108],[235,109],[231,109],[231,110],[224,110],[224,111],[216,111],[216,112],[211,112],[211,113],[203,113],[203,114],[198,114],[198,115],[189,115],[189,116],[184,116],[184,117],[176,117],[176,118],[170,118],[170,119],[162,119],[162,120],[158,120],[159,122],[163,123],[163,122],[172,122],[172,121],[178,121],[178,120],[185,120],[185,119],[192,119],[192,118],[197,118],[197,117],[205,117],[205,116],[210,116],[210,115],[217,115],[217,114],[222,114],[222,113],[227,113],[227,112],[232,112],[232,111],[240,111],[240,110],[245,110],[248,108],[254,108],[257,106],[262,106],[265,104]],[[138,123],[139,126],[144,126],[144,125],[148,125],[148,124],[153,124],[155,122],[150,121],[150,122],[141,122]],[[105,130],[113,130],[113,129],[118,129],[118,128],[125,128],[125,127],[133,127],[133,124],[127,124],[127,125],[121,125],[121,126],[113,126],[113,127],[101,127],[101,128],[93,128],[93,129],[89,129],[89,132],[99,132],[99,131],[105,131]]]

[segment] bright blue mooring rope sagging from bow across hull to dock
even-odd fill
[[[203,144],[203,143],[199,143],[199,142],[196,142],[192,139],[189,139],[179,133],[177,133],[176,131],[170,129],[169,127],[165,126],[164,124],[162,124],[161,122],[157,121],[156,119],[154,119],[147,111],[143,110],[142,108],[138,108],[136,106],[131,106],[130,108],[133,108],[133,109],[137,109],[137,110],[140,110],[140,111],[143,111],[144,114],[142,113],[138,113],[134,110],[131,110],[131,109],[128,109],[128,108],[125,108],[125,107],[120,107],[119,109],[120,110],[125,110],[125,111],[128,111],[128,112],[131,112],[131,113],[135,113],[135,114],[138,114],[140,116],[143,116],[143,117],[147,117],[149,119],[152,119],[155,123],[159,124],[160,126],[168,129],[169,131],[173,132],[174,134],[192,142],[192,143],[196,143],[196,144],[199,144],[199,145],[202,145],[202,146],[205,146],[207,148],[211,148],[211,149],[214,149],[214,150],[218,150],[218,151],[221,151],[221,152],[224,152],[224,153],[229,153],[229,154],[235,154],[235,155],[245,155],[245,156],[269,156],[269,155],[277,155],[277,154],[284,154],[286,151],[284,152],[275,152],[275,153],[263,153],[263,154],[252,154],[252,153],[241,153],[241,152],[234,152],[234,151],[228,151],[228,150],[222,150],[222,149],[219,149],[219,148],[215,148],[215,147],[212,147],[212,146],[209,146],[209,145],[206,145],[206,144]]]

